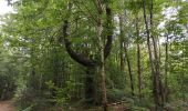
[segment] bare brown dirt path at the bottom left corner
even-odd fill
[[[14,111],[14,108],[13,108],[11,101],[0,102],[0,111]]]

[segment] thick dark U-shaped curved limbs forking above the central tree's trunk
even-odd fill
[[[105,49],[104,49],[104,58],[106,59],[109,56],[111,52],[111,48],[112,48],[112,36],[113,36],[113,29],[112,29],[112,11],[111,8],[106,7],[106,18],[107,18],[107,40],[106,40],[106,44],[105,44]],[[84,57],[82,53],[77,53],[75,51],[73,51],[73,49],[71,48],[71,41],[67,39],[67,28],[69,28],[69,21],[64,20],[64,24],[63,24],[63,40],[65,43],[65,49],[67,51],[67,53],[70,54],[70,57],[75,60],[76,62],[79,62],[80,64],[84,65],[84,67],[94,67],[97,64],[97,60],[93,60],[90,59],[87,57]]]

